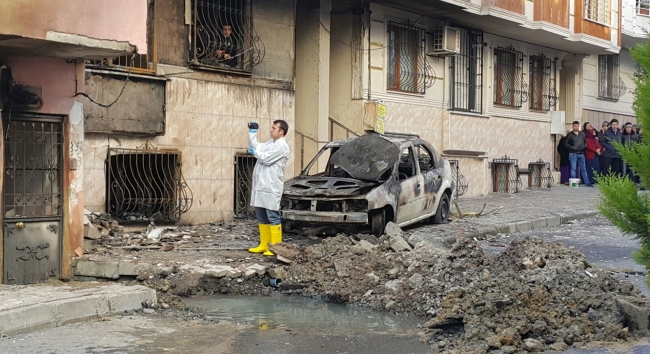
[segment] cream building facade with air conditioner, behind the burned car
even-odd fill
[[[465,196],[496,191],[494,159],[516,159],[521,170],[541,160],[553,170],[559,163],[553,117],[581,119],[588,101],[583,58],[620,50],[617,2],[595,20],[579,2],[299,4],[297,29],[320,41],[321,69],[312,76],[320,85],[310,82],[310,100],[297,99],[296,124],[309,138],[296,140],[296,170],[323,140],[363,133],[368,102],[387,107],[386,131],[418,134],[456,160],[468,182]],[[457,45],[441,50],[439,33]],[[309,72],[301,72],[301,58],[315,52],[300,41],[296,51],[299,97],[301,76]],[[313,60],[305,58],[311,68],[307,63]],[[319,114],[307,114],[316,102]],[[528,175],[520,172],[527,188]]]

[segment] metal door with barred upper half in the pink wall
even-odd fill
[[[61,274],[62,123],[3,117],[2,282],[28,284]]]

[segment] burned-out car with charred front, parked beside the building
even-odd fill
[[[389,221],[446,223],[453,192],[449,162],[427,141],[371,133],[325,145],[285,182],[281,214],[286,229],[368,225],[380,235]]]

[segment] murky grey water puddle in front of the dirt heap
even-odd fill
[[[301,296],[209,295],[183,299],[221,321],[254,324],[261,330],[285,329],[321,334],[416,334],[425,320],[376,312],[359,306],[330,304]]]

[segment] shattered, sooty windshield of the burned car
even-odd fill
[[[377,134],[362,135],[341,146],[330,158],[352,178],[378,181],[400,158],[395,144]]]

